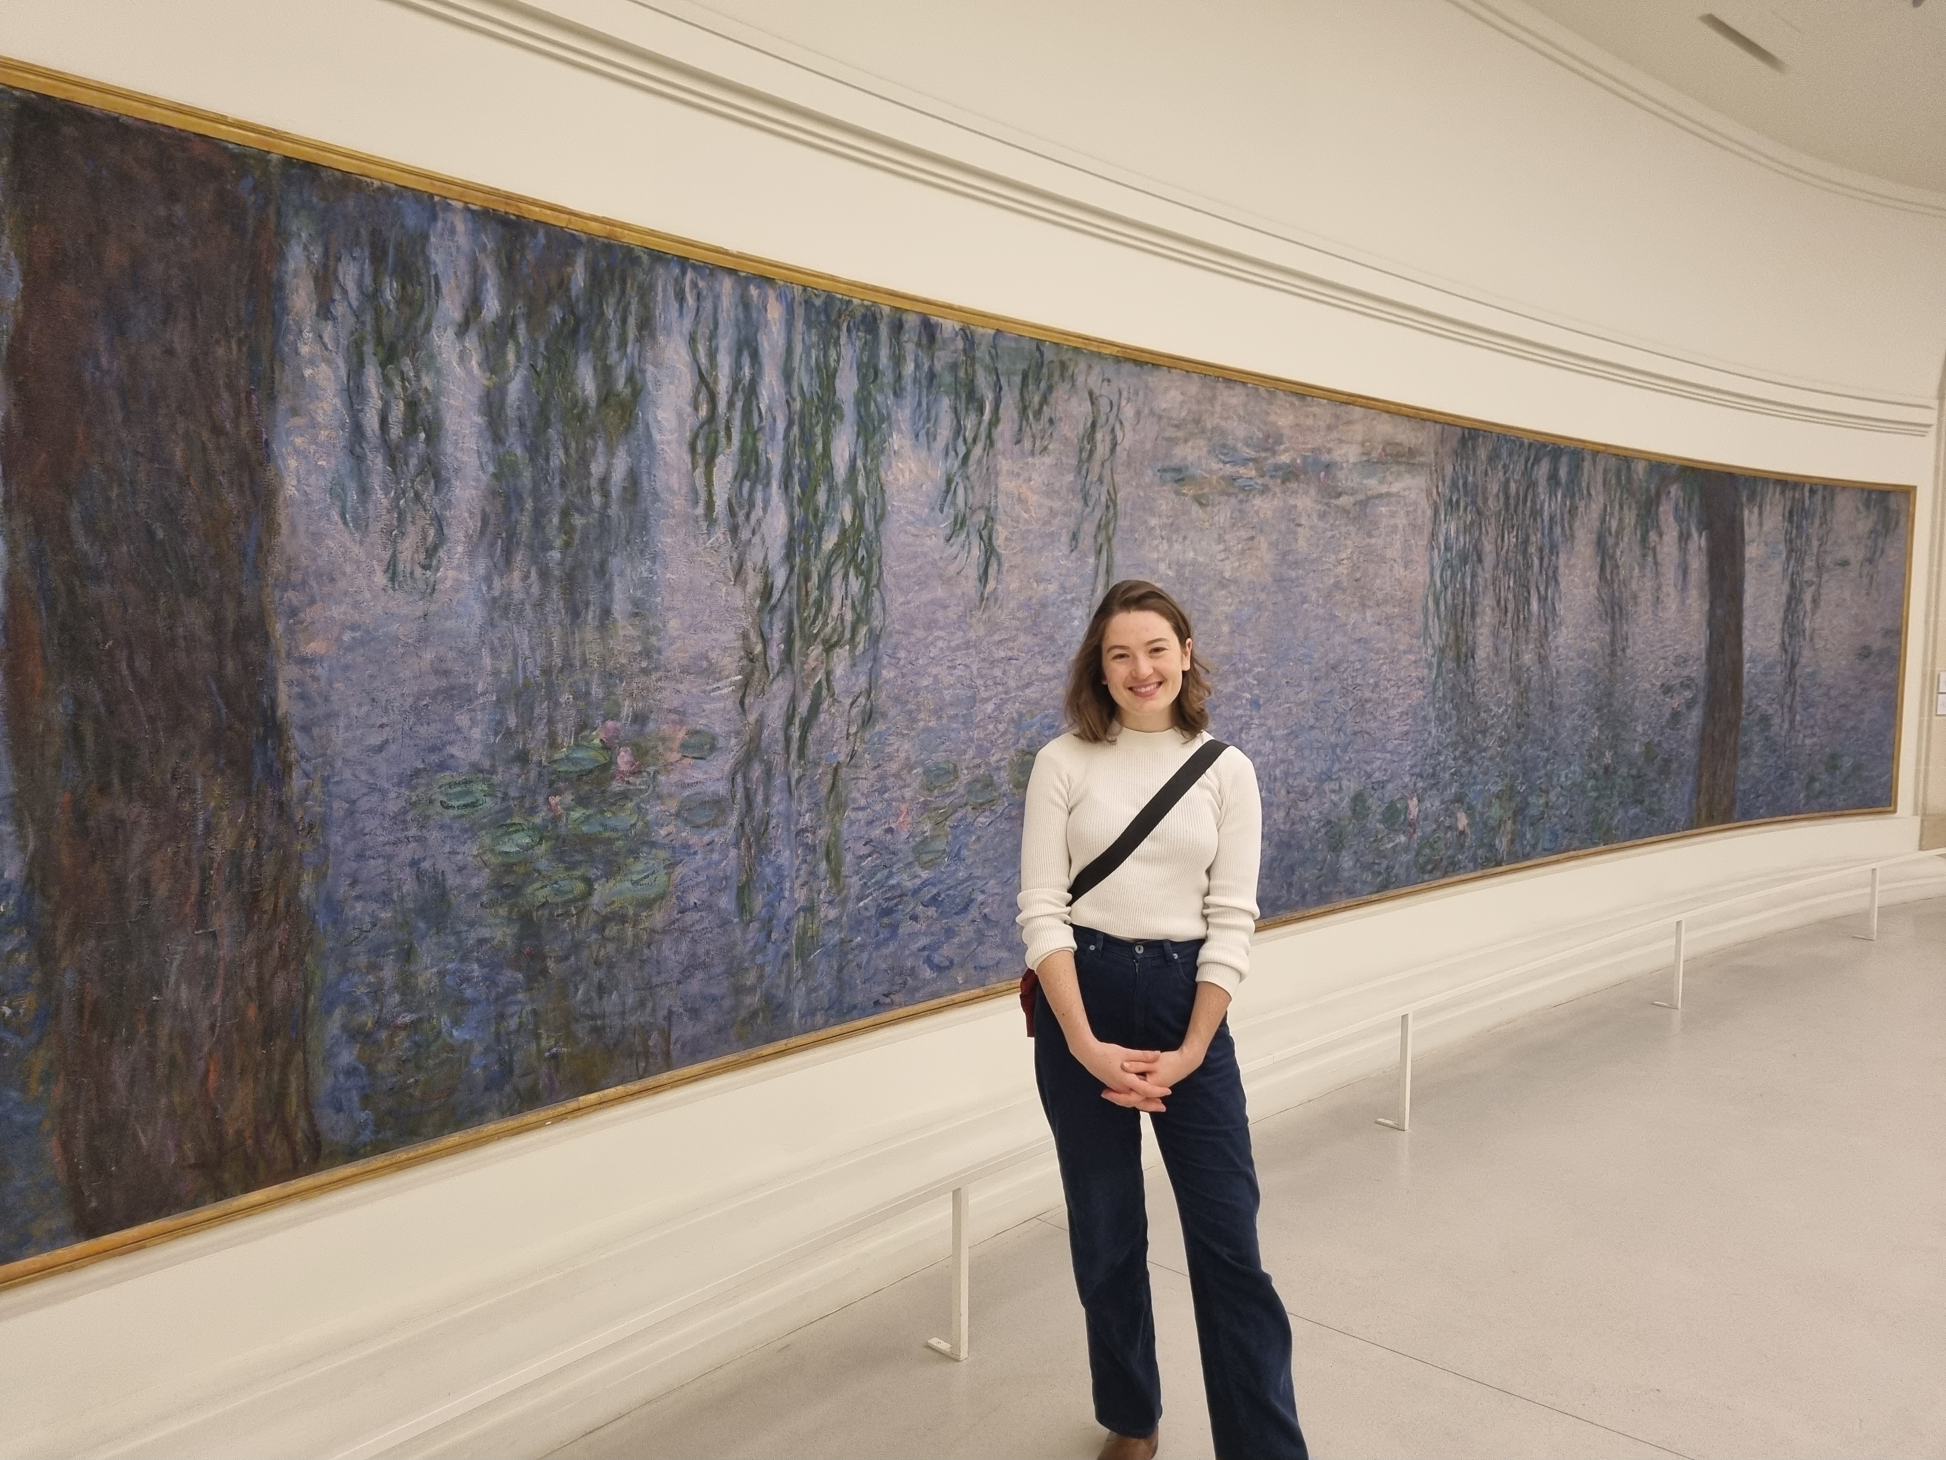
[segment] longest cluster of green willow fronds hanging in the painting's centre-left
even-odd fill
[[[788,921],[796,966],[845,888],[847,775],[878,693],[897,403],[885,311],[738,276],[691,274],[683,292],[697,500],[751,605],[732,771],[738,913],[767,938]],[[767,872],[775,831],[782,858]]]

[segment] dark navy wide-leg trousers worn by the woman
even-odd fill
[[[1175,1049],[1189,1032],[1201,942],[1125,942],[1074,929],[1082,1004],[1098,1040]],[[1101,1098],[1068,1051],[1043,993],[1033,1065],[1068,1199],[1074,1285],[1088,1314],[1096,1419],[1148,1435],[1162,1419],[1156,1320],[1148,1293],[1140,1113]],[[1203,1065],[1152,1115],[1175,1187],[1220,1460],[1304,1460],[1290,1382],[1290,1318],[1257,1252],[1257,1168],[1228,1020]]]

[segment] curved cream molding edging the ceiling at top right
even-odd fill
[[[1841,167],[1835,162],[1798,152],[1744,123],[1724,117],[1685,91],[1658,82],[1648,72],[1637,70],[1522,0],[1448,0],[1448,4],[1491,25],[1500,35],[1520,41],[1520,45],[1547,56],[1557,66],[1565,66],[1582,80],[1594,82],[1604,91],[1724,152],[1734,152],[1748,162],[1783,173],[1792,181],[1810,183],[1825,193],[1837,193],[1858,202],[1876,202],[1882,208],[1897,208],[1899,212],[1946,218],[1946,193],[1893,183],[1890,177],[1874,177],[1872,173]]]

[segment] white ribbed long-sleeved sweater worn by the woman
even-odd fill
[[[1068,884],[1107,851],[1208,734],[1119,730],[1090,746],[1049,742],[1033,759],[1020,837],[1020,929],[1027,967],[1074,948],[1074,927],[1113,938],[1205,938],[1197,979],[1232,995],[1249,971],[1257,929],[1263,806],[1257,767],[1230,748],[1183,794],[1129,860],[1068,907]]]

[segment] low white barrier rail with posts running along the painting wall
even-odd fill
[[[1695,907],[1687,907],[1681,913],[1662,913],[1658,917],[1644,919],[1640,923],[1631,923],[1625,929],[1615,929],[1613,932],[1604,932],[1598,938],[1588,938],[1584,942],[1576,942],[1570,948],[1559,948],[1559,950],[1543,954],[1539,958],[1530,958],[1526,964],[1516,964],[1514,967],[1495,969],[1493,973],[1487,973],[1485,977],[1473,979],[1469,983],[1461,983],[1458,989],[1440,989],[1438,993],[1426,995],[1424,999],[1415,999],[1409,1004],[1399,1004],[1397,1008],[1391,1008],[1386,1014],[1372,1014],[1370,1018],[1362,1018],[1356,1024],[1341,1024],[1341,1026],[1333,1028],[1329,1034],[1321,1034],[1315,1040],[1306,1040],[1304,1043],[1294,1045],[1294,1047],[1282,1051],[1282,1055],[1288,1059],[1290,1055],[1304,1053],[1306,1049],[1315,1049],[1315,1047],[1325,1045],[1325,1043],[1335,1043],[1335,1041],[1339,1041],[1339,1040],[1343,1040],[1343,1038],[1347,1038],[1351,1034],[1358,1034],[1360,1030],[1368,1030],[1368,1028],[1374,1028],[1378,1024],[1389,1024],[1391,1020],[1399,1020],[1399,1082],[1397,1082],[1399,1106],[1397,1106],[1397,1117],[1393,1119],[1393,1117],[1384,1117],[1382,1115],[1382,1117],[1378,1117],[1378,1123],[1380,1125],[1389,1125],[1395,1131],[1407,1131],[1411,1127],[1411,1123],[1413,1123],[1413,1014],[1421,1012],[1423,1008],[1430,1008],[1430,1006],[1440,1004],[1440,1003],[1444,1003],[1448,999],[1458,999],[1461,995],[1473,993],[1477,989],[1485,989],[1491,983],[1500,983],[1504,979],[1518,977],[1520,973],[1530,973],[1530,971],[1533,971],[1537,967],[1545,967],[1547,964],[1559,964],[1561,960],[1572,958],[1576,954],[1584,954],[1590,948],[1600,948],[1605,942],[1615,942],[1615,940],[1627,938],[1627,936],[1639,936],[1639,934],[1648,932],[1652,929],[1670,925],[1674,929],[1674,934],[1676,934],[1676,958],[1674,958],[1674,964],[1672,964],[1672,969],[1670,969],[1670,997],[1668,999],[1656,999],[1654,1003],[1656,1003],[1658,1008],[1676,1008],[1676,1010],[1679,1010],[1683,1006],[1683,946],[1687,942],[1689,921],[1691,919],[1701,917],[1703,913],[1714,913],[1714,911],[1720,911],[1724,907],[1734,907],[1736,903],[1742,903],[1742,901],[1751,901],[1751,899],[1757,899],[1757,897],[1775,897],[1781,892],[1792,892],[1794,888],[1806,888],[1806,886],[1812,886],[1814,882],[1829,882],[1831,878],[1853,876],[1856,872],[1870,872],[1870,894],[1868,894],[1870,901],[1868,901],[1868,909],[1866,909],[1866,931],[1860,932],[1860,934],[1856,934],[1856,936],[1864,938],[1864,940],[1870,940],[1870,942],[1876,942],[1878,940],[1878,886],[1880,886],[1880,872],[1884,868],[1888,868],[1888,866],[1899,866],[1903,862],[1921,862],[1921,860],[1927,860],[1927,858],[1932,858],[1932,857],[1946,857],[1946,847],[1936,847],[1932,851],[1921,851],[1921,853],[1905,853],[1901,857],[1886,857],[1886,858],[1880,858],[1876,862],[1853,862],[1851,866],[1833,866],[1833,868],[1829,868],[1825,872],[1814,872],[1812,876],[1794,878],[1794,880],[1783,882],[1779,886],[1757,888],[1753,892],[1736,894],[1734,897],[1718,897],[1718,899],[1709,901],[1709,903],[1697,903]],[[924,1191],[917,1191],[917,1193],[911,1193],[907,1197],[901,1197],[897,1203],[893,1203],[889,1207],[878,1209],[878,1211],[874,1211],[874,1213],[870,1213],[866,1217],[860,1217],[860,1219],[845,1224],[845,1234],[858,1232],[858,1230],[870,1226],[876,1221],[882,1221],[882,1219],[891,1217],[891,1215],[895,1215],[899,1211],[907,1211],[911,1207],[917,1207],[922,1201],[936,1199],[938,1195],[942,1195],[948,1189],[952,1191],[952,1203],[954,1203],[952,1337],[950,1339],[926,1339],[926,1347],[928,1349],[944,1353],[948,1359],[965,1361],[965,1359],[971,1357],[971,1347],[967,1343],[967,1337],[969,1337],[969,1322],[971,1322],[971,1240],[973,1240],[973,1234],[971,1234],[971,1223],[969,1223],[969,1209],[971,1209],[971,1186],[973,1186],[973,1182],[979,1180],[979,1178],[983,1178],[983,1176],[992,1176],[994,1172],[1006,1170],[1008,1166],[1018,1166],[1024,1160],[1033,1160],[1035,1156],[1043,1156],[1049,1150],[1053,1150],[1053,1141],[1047,1141],[1047,1139],[1033,1141],[1033,1143],[1029,1143],[1026,1147],[1020,1147],[1018,1150],[1006,1152],[1002,1156],[994,1156],[991,1160],[983,1160],[983,1162],[979,1162],[979,1166],[973,1166],[973,1168],[969,1168],[969,1170],[965,1170],[965,1172],[961,1172],[957,1176],[946,1178],[942,1182],[934,1182]]]

